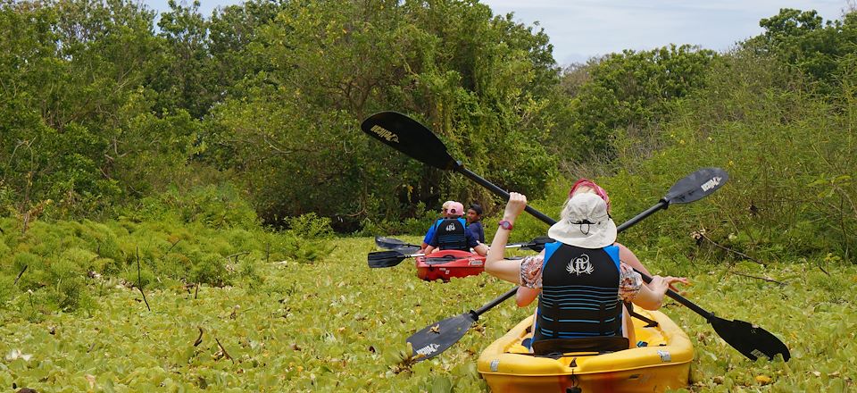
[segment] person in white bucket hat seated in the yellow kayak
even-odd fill
[[[615,246],[616,224],[607,201],[595,193],[577,192],[562,207],[560,221],[548,236],[557,240],[535,256],[504,258],[505,244],[527,197],[512,193],[488,252],[485,271],[499,279],[540,292],[533,342],[544,339],[626,337],[636,343],[633,324],[623,301],[648,310],[661,307],[677,277],[642,277],[620,260]]]

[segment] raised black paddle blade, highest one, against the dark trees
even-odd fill
[[[444,143],[431,130],[402,113],[375,113],[364,120],[360,128],[372,138],[420,163],[442,170],[454,169],[458,165],[446,152]]]

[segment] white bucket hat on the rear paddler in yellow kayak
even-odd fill
[[[616,223],[607,214],[607,204],[592,193],[571,197],[562,207],[561,219],[547,236],[569,246],[607,247],[616,241]]]

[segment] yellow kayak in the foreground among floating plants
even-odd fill
[[[658,322],[647,328],[634,318],[645,347],[597,353],[534,356],[521,345],[532,337],[529,316],[479,355],[478,370],[494,392],[660,392],[687,386],[694,347],[675,322],[658,311],[637,309]]]

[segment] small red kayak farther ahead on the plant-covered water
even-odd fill
[[[485,270],[485,256],[460,250],[440,250],[417,256],[417,277],[449,281],[453,277],[475,276]]]

